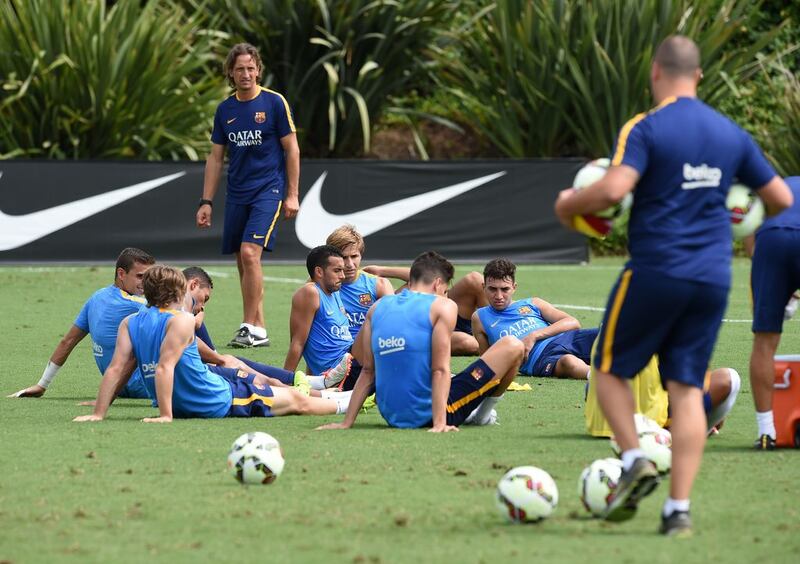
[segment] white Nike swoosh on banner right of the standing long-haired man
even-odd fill
[[[438,190],[403,198],[396,202],[389,202],[374,208],[361,210],[352,213],[335,215],[329,213],[322,207],[322,184],[328,172],[323,172],[316,182],[311,186],[302,204],[300,212],[297,214],[295,232],[297,239],[309,249],[314,248],[325,242],[325,238],[331,231],[340,227],[342,224],[350,223],[358,228],[362,236],[372,235],[381,229],[400,223],[404,219],[417,215],[442,202],[455,198],[459,194],[468,192],[478,186],[482,186],[496,178],[506,174],[505,171],[496,172],[480,178],[474,178],[465,182],[459,182],[452,186],[445,186]]]

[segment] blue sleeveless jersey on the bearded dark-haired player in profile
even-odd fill
[[[311,374],[322,374],[336,366],[350,350],[353,337],[339,292],[328,295],[317,284],[314,288],[319,294],[319,309],[308,331],[303,358]]]

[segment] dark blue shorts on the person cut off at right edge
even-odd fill
[[[756,235],[750,287],[753,333],[781,333],[783,309],[800,288],[800,230],[768,229]]]

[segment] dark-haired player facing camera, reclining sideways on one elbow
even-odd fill
[[[472,315],[481,353],[513,335],[525,344],[522,374],[585,380],[598,329],[581,329],[577,319],[541,298],[513,301],[516,270],[506,259],[489,261],[483,269],[489,305]]]

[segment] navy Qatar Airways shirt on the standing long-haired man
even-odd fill
[[[286,98],[266,88],[252,100],[240,101],[233,94],[217,106],[211,142],[228,148],[229,202],[283,199],[286,163],[281,138],[294,131]]]

